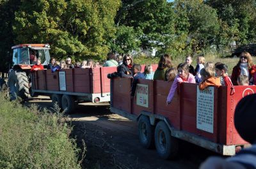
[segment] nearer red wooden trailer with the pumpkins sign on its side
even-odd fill
[[[162,158],[177,154],[179,139],[232,156],[248,146],[234,127],[238,101],[256,91],[256,86],[208,87],[182,83],[170,105],[166,98],[172,83],[139,80],[131,99],[131,79],[111,79],[111,112],[138,121],[144,147],[156,145]]]

